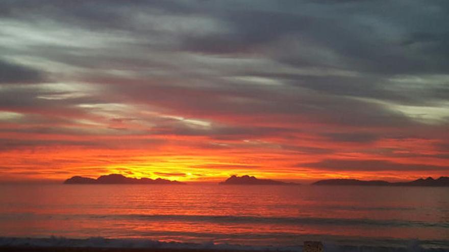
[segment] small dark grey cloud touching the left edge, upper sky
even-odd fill
[[[0,59],[0,84],[2,83],[36,83],[43,81],[42,72]]]

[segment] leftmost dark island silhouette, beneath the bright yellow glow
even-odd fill
[[[98,177],[97,179],[85,178],[81,176],[74,176],[66,181],[64,184],[157,184],[157,185],[184,185],[185,183],[176,180],[167,179],[149,179],[149,178],[127,178],[121,174],[109,174]]]

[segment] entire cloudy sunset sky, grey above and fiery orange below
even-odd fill
[[[0,180],[449,176],[446,0],[2,0]]]

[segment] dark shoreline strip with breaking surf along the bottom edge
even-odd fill
[[[299,237],[298,237],[299,238]],[[420,241],[386,239],[379,243],[341,243],[320,241],[325,252],[449,252],[447,240]],[[73,239],[51,236],[49,238],[0,237],[0,251],[8,252],[302,252],[303,245],[255,246],[227,243],[164,242],[150,239],[113,239],[91,237]]]

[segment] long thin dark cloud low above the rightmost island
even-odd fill
[[[449,169],[449,166],[354,159],[325,159],[314,163],[301,163],[298,164],[298,167],[311,167],[328,171],[446,171]]]

